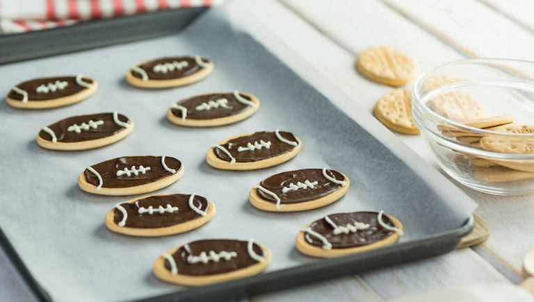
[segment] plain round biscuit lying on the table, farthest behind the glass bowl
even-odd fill
[[[371,81],[400,87],[412,81],[418,72],[416,62],[397,49],[371,47],[359,54],[356,67]]]

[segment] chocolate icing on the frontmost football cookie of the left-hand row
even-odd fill
[[[190,255],[184,246],[181,246],[175,253],[172,253],[172,258],[175,259],[178,274],[190,275],[190,276],[210,276],[215,274],[229,273],[230,271],[236,271],[238,269],[244,269],[250,267],[258,262],[248,255],[246,241],[240,240],[198,240],[189,242],[189,249],[193,255],[199,255],[202,251],[209,253],[214,251],[219,253],[220,251],[235,251],[237,258],[230,260],[219,260],[219,262],[209,261],[207,263],[188,263],[187,257]],[[261,247],[258,244],[253,244],[252,249],[258,255],[264,255]],[[168,260],[165,260],[165,268],[170,271],[170,264]]]

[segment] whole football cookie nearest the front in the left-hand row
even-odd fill
[[[154,274],[169,283],[200,286],[259,274],[270,251],[252,240],[198,240],[156,259]]]

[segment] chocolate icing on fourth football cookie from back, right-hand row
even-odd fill
[[[345,180],[345,176],[338,171],[327,169],[326,173],[339,181]],[[316,181],[317,185],[314,186],[314,189],[308,187],[306,189],[299,189],[296,191],[289,191],[285,193],[282,192],[282,188],[288,187],[289,183],[296,185],[299,181],[301,183],[304,183],[305,181],[314,183]],[[261,181],[261,183],[259,183],[259,185],[270,192],[275,193],[280,198],[281,204],[312,201],[331,194],[341,187],[341,185],[327,180],[327,178],[323,176],[323,169],[301,169],[295,171],[286,171],[265,178],[263,181]],[[256,192],[259,196],[261,196],[262,199],[276,203],[276,200],[273,196],[270,196],[259,189],[256,189]]]

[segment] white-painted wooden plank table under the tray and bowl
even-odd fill
[[[531,0],[236,0],[230,4],[239,6],[236,19],[252,14],[257,24],[270,28],[277,43],[259,40],[296,72],[298,65],[284,54],[288,49],[348,94],[354,103],[338,104],[345,110],[364,108],[371,114],[375,101],[391,90],[355,71],[357,53],[372,45],[410,53],[423,71],[462,58],[534,59]],[[435,165],[421,136],[398,137]],[[534,247],[534,197],[491,196],[458,186],[478,203],[476,213],[489,225],[491,235],[485,244],[250,301],[384,301],[447,286],[519,283],[524,278],[522,257]],[[4,268],[0,292],[7,293],[3,301],[19,301],[25,297],[24,288],[7,266],[0,255]]]

